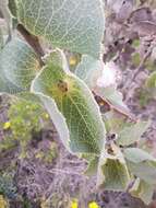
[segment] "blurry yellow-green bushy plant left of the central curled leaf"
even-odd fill
[[[9,109],[9,129],[11,135],[5,137],[0,149],[10,149],[21,145],[21,157],[26,157],[27,145],[34,132],[39,132],[47,115],[43,107],[25,100],[14,100]]]

